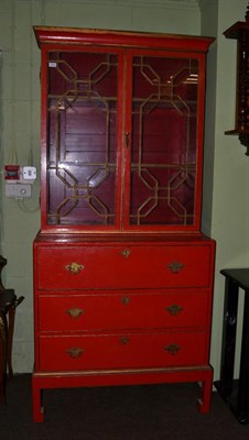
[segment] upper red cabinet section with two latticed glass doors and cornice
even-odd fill
[[[34,29],[42,231],[199,231],[208,37]]]

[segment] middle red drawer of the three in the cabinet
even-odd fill
[[[40,331],[205,327],[208,293],[39,296]]]

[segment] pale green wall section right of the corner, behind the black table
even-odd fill
[[[225,135],[235,128],[237,41],[223,33],[237,21],[245,21],[246,0],[219,0],[217,28],[217,80],[215,106],[214,186],[212,235],[217,240],[213,312],[212,363],[219,375],[225,278],[221,268],[249,267],[249,157],[237,135]],[[242,295],[241,295],[242,299]],[[241,300],[239,316],[241,317]],[[240,338],[241,319],[238,324]],[[237,344],[235,375],[238,376],[240,344]]]

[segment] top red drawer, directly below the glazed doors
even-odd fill
[[[208,245],[39,248],[37,287],[51,289],[117,289],[207,287]]]

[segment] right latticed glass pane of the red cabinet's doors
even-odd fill
[[[133,58],[131,224],[193,224],[198,62]]]

